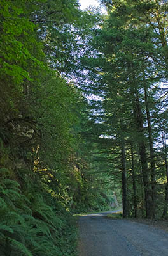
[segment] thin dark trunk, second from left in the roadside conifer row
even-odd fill
[[[132,161],[132,188],[133,188],[133,202],[134,202],[134,217],[137,218],[137,189],[136,189],[136,177],[134,166],[134,152],[131,145],[131,161]]]

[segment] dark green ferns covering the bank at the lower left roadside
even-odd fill
[[[75,219],[52,197],[46,202],[38,191],[28,192],[24,195],[17,181],[2,175],[0,255],[75,256]]]

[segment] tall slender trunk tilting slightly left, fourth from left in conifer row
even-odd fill
[[[148,104],[148,89],[147,89],[147,84],[146,84],[144,68],[143,68],[143,87],[144,87],[144,100],[145,100],[145,106],[146,106],[146,116],[147,116],[147,122],[148,122],[149,145],[150,145],[151,198],[152,198],[151,214],[152,214],[152,217],[154,218],[155,217],[155,207],[156,207],[155,156],[154,156],[154,150],[153,150],[153,135],[152,135],[152,129],[151,129],[150,108],[149,108],[149,104]]]

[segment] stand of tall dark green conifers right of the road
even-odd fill
[[[167,3],[101,3],[108,15],[90,32],[80,59],[85,92],[102,97],[90,100],[92,129],[85,132],[96,148],[92,161],[99,162],[95,170],[104,180],[125,188],[130,216],[166,216],[167,99],[161,83],[167,82]]]

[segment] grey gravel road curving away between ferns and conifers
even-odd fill
[[[79,218],[80,256],[168,256],[168,232],[108,213]]]

